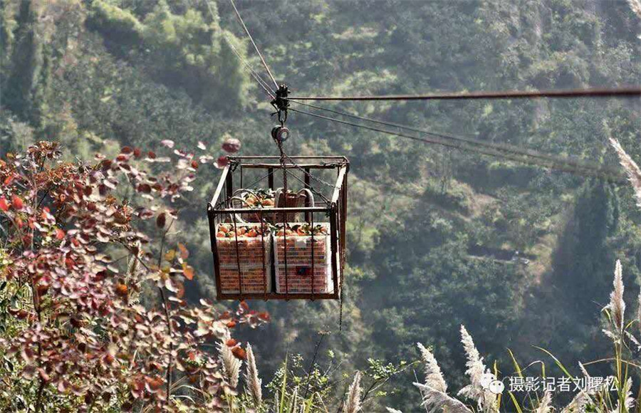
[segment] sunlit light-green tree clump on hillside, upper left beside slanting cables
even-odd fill
[[[182,88],[205,108],[242,108],[246,75],[232,48],[244,57],[245,46],[222,30],[214,5],[205,10],[211,12],[187,9],[174,14],[163,0],[139,21],[131,11],[97,0],[88,25],[105,37],[105,46],[116,56],[145,67],[170,88]]]

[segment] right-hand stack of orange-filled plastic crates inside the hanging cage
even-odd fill
[[[286,250],[283,238],[286,239]],[[329,235],[313,236],[313,254],[311,236],[273,235],[273,242],[276,248],[274,257],[276,293],[333,293]],[[287,271],[285,271],[285,251],[287,251]]]

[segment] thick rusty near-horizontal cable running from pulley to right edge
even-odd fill
[[[529,98],[630,98],[641,88],[588,88],[566,90],[502,90],[496,92],[430,93],[427,95],[291,96],[289,100],[476,100]]]

